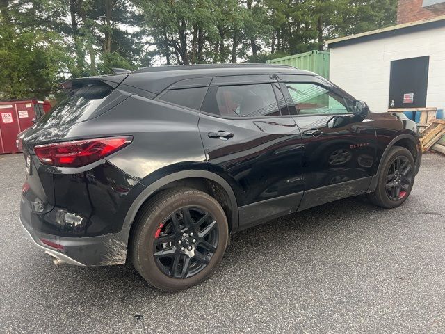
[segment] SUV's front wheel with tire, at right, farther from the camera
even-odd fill
[[[414,159],[406,148],[394,146],[382,161],[377,188],[368,194],[369,200],[380,207],[393,208],[410,196],[414,185]]]

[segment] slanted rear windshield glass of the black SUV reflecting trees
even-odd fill
[[[59,127],[88,120],[113,88],[106,84],[65,90],[58,105],[38,122],[39,127]]]

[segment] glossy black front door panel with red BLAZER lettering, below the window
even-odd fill
[[[299,116],[295,120],[302,131],[305,190],[374,175],[376,138],[371,122],[353,115]],[[321,135],[305,134],[314,129]]]

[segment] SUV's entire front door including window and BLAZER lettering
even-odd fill
[[[282,90],[302,133],[301,209],[364,193],[375,175],[372,122],[352,113],[353,98],[321,77],[283,77]]]

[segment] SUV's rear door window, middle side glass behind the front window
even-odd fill
[[[280,116],[277,99],[270,84],[220,86],[204,102],[203,111],[221,116]],[[206,100],[207,100],[206,99]]]

